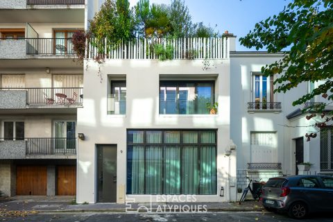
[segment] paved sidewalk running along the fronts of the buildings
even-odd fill
[[[73,204],[74,196],[15,196],[0,198],[1,212],[156,212],[158,207],[173,211],[173,209],[187,206],[198,207],[203,205],[208,212],[222,211],[262,211],[262,205],[254,200],[246,200],[242,205],[238,203],[131,203],[131,205],[117,203]],[[188,209],[185,207],[185,210]],[[198,210],[198,208],[196,208]],[[158,210],[157,210],[158,212]],[[177,211],[176,211],[177,212]],[[179,212],[179,211],[178,211]]]

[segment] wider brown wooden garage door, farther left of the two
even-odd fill
[[[17,195],[46,195],[46,166],[17,166]]]

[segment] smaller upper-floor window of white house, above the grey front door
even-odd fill
[[[111,94],[108,94],[108,114],[126,114],[126,80],[111,80]]]

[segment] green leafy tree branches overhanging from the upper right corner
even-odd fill
[[[282,12],[255,24],[255,29],[240,38],[247,47],[278,53],[287,47],[280,61],[262,67],[266,76],[278,75],[275,92],[287,92],[303,82],[324,80],[313,92],[293,105],[316,95],[333,92],[333,0],[294,0]],[[325,96],[324,96],[325,95]],[[333,96],[327,99],[333,100]],[[322,109],[325,105],[322,106]],[[317,110],[320,111],[320,110]]]

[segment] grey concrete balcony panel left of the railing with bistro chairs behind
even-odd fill
[[[0,90],[0,109],[26,109],[26,90]]]

